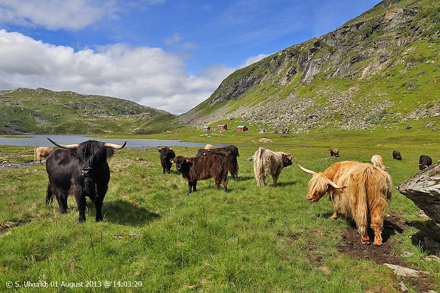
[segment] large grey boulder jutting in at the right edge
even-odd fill
[[[440,223],[440,161],[400,183],[397,190]]]

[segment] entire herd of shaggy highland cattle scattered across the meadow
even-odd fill
[[[78,221],[86,221],[86,196],[95,204],[96,221],[103,219],[101,208],[110,181],[110,169],[107,159],[114,149],[124,145],[87,141],[81,144],[61,145],[49,139],[57,148],[35,148],[35,160],[46,159],[46,171],[49,177],[46,191],[46,204],[53,202],[55,196],[61,213],[67,212],[67,196],[73,194],[78,205]],[[43,149],[43,151],[41,151]],[[197,181],[214,178],[217,188],[220,184],[227,191],[228,172],[231,177],[238,176],[237,157],[240,156],[236,146],[213,148],[211,145],[199,149],[196,157],[176,156],[173,148],[157,148],[163,173],[171,173],[172,164],[183,178],[188,180],[188,194],[196,191]],[[339,156],[338,149],[329,149],[331,156]],[[402,160],[398,151],[393,158]],[[295,158],[296,160],[296,158]],[[253,156],[254,173],[257,186],[263,181],[267,185],[269,175],[273,185],[277,186],[278,176],[284,167],[292,165],[292,155],[287,152],[274,152],[260,147]],[[315,172],[297,166],[312,178],[308,182],[307,199],[315,202],[324,194],[329,194],[334,211],[330,218],[337,218],[338,211],[354,219],[363,244],[370,244],[367,234],[368,223],[374,230],[374,245],[382,245],[383,218],[387,200],[391,196],[391,177],[385,171],[382,157],[374,155],[372,164],[343,161],[331,165],[324,171]],[[432,164],[428,156],[420,156],[419,168],[424,169]]]

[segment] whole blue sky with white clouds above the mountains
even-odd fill
[[[234,70],[377,3],[0,0],[0,88],[74,90],[181,113]]]

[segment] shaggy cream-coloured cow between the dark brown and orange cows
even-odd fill
[[[267,186],[267,178],[272,175],[273,186],[277,186],[278,176],[284,167],[292,165],[292,155],[285,152],[274,152],[260,147],[254,154],[254,174],[257,186]]]

